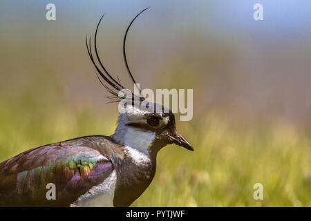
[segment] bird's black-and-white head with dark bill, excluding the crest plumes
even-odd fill
[[[177,144],[194,151],[194,148],[176,130],[175,115],[168,108],[147,102],[146,106],[126,106],[113,134],[115,140],[140,151],[158,153],[167,144]]]

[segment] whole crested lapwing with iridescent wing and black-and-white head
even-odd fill
[[[123,39],[126,70],[136,81],[126,60],[126,35]],[[108,90],[111,102],[120,102],[119,77],[106,70],[97,51],[97,23],[94,45],[86,36],[86,48],[100,83]],[[95,52],[95,54],[94,54]],[[133,97],[137,98],[137,95]],[[161,104],[147,102],[142,95],[124,107],[113,135],[90,135],[32,148],[0,163],[0,206],[130,206],[147,189],[156,173],[157,153],[167,144],[194,151],[176,131],[175,116]],[[138,100],[138,101],[137,101]],[[147,102],[156,113],[135,104]],[[165,111],[166,110],[166,111]],[[55,197],[47,198],[48,184],[55,185]]]

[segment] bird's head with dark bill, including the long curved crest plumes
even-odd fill
[[[145,8],[144,10],[147,9],[148,8]],[[134,84],[136,84],[136,81],[131,73],[131,70],[129,69],[129,64],[126,60],[126,36],[133,21],[135,21],[135,19],[142,12],[144,12],[144,10],[136,15],[135,18],[131,21],[126,29],[123,39],[124,62],[129,76],[131,77]],[[104,15],[102,18],[103,17]],[[100,26],[102,18],[98,22],[97,28],[95,30],[93,45],[94,49],[92,49],[91,37],[89,39],[86,38],[86,48],[88,50],[88,55],[90,56],[91,61],[97,70],[97,77],[100,80],[100,83],[111,94],[109,98],[112,99],[112,102],[120,102],[124,98],[122,96],[120,97],[120,91],[122,90],[125,90],[127,95],[131,95],[130,97],[135,97],[136,95],[133,95],[130,90],[122,86],[120,79],[115,79],[106,70],[104,64],[100,60],[97,52],[96,37],[97,30]],[[150,109],[149,107],[151,106],[154,108]],[[164,106],[147,102],[144,97],[139,95],[138,103],[133,102],[130,105],[126,105],[122,109],[123,111],[118,119],[117,129],[113,134],[113,138],[117,142],[121,142],[124,145],[137,148],[140,151],[148,151],[149,153],[157,153],[160,148],[166,146],[167,144],[177,144],[187,148],[190,151],[194,151],[194,148],[192,148],[191,144],[189,144],[189,142],[187,142],[187,140],[185,140],[176,131],[175,116],[169,109],[165,108]]]

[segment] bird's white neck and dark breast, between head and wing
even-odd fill
[[[113,204],[129,206],[147,189],[156,173],[156,153],[151,151],[156,135],[138,128],[118,126],[111,137],[122,144],[124,152],[122,160],[115,160],[117,177],[120,178]]]

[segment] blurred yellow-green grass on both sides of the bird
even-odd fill
[[[53,96],[1,99],[0,161],[43,144],[113,133],[117,115],[103,112],[109,104],[72,105]],[[156,177],[132,206],[311,206],[310,133],[281,121],[225,116],[209,111],[178,122],[195,151],[164,147]],[[263,184],[263,200],[253,198],[255,183]]]

